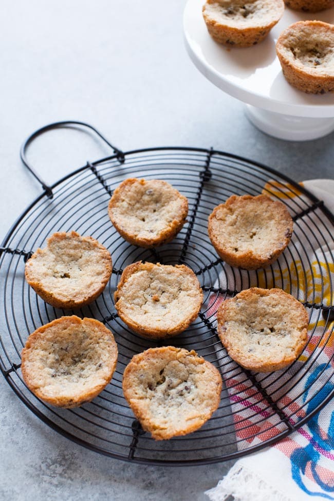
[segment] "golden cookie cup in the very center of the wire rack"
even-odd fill
[[[129,328],[145,338],[183,332],[199,313],[203,292],[185,265],[138,261],[127,266],[115,292],[115,307]]]

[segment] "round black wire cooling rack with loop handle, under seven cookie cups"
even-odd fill
[[[26,147],[59,126],[88,126],[113,149],[113,155],[87,163],[49,187],[26,160]],[[237,458],[287,436],[309,420],[333,395],[331,306],[333,216],[323,202],[291,179],[253,161],[213,149],[161,147],[123,153],[93,127],[59,122],[32,134],[22,160],[43,187],[9,230],[0,249],[0,363],[14,392],[29,409],[69,439],[107,456],[155,465],[196,465]],[[188,221],[170,244],[156,249],[129,245],[113,228],[107,205],[125,178],[164,179],[189,200]],[[278,261],[263,270],[245,271],[222,262],[207,234],[213,208],[230,195],[266,193],[288,207],[294,231]],[[27,285],[24,266],[31,252],[44,247],[55,231],[76,230],[107,247],[113,274],[100,297],[80,310],[55,309]],[[181,335],[146,340],[129,330],[114,306],[114,291],[125,266],[135,261],[185,264],[204,292],[199,316]],[[251,286],[279,287],[300,300],[309,313],[309,338],[301,357],[287,369],[256,374],[235,364],[221,345],[215,313],[221,300]],[[94,317],[113,331],[119,359],[112,381],[92,402],[60,409],[37,399],[21,375],[21,351],[41,325],[75,313]],[[223,380],[218,410],[201,429],[168,441],[144,433],[122,393],[122,374],[131,358],[146,348],[174,345],[194,349],[212,362]]]

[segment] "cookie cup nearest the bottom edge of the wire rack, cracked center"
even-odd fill
[[[187,435],[218,408],[222,381],[195,351],[163,346],[135,355],[123,375],[123,393],[142,428],[156,440]]]

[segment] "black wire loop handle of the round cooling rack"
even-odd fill
[[[22,162],[26,166],[26,168],[29,169],[31,174],[42,185],[42,188],[45,190],[45,193],[49,198],[53,197],[52,188],[41,178],[41,176],[33,169],[33,167],[28,162],[27,157],[26,157],[27,148],[28,148],[29,144],[31,144],[32,141],[34,139],[36,139],[36,137],[41,136],[45,132],[51,131],[52,129],[56,129],[56,128],[60,128],[60,127],[67,127],[68,125],[80,125],[82,127],[89,128],[91,131],[95,132],[95,134],[97,134],[102,139],[102,141],[104,141],[108,146],[110,146],[110,148],[112,148],[113,152],[115,153],[115,155],[120,163],[124,163],[124,160],[125,160],[124,153],[121,150],[119,150],[118,148],[116,148],[116,146],[114,146],[112,143],[110,143],[104,136],[102,136],[102,134],[99,131],[97,131],[97,129],[95,127],[93,127],[92,125],[89,125],[88,123],[77,122],[75,120],[67,120],[65,122],[54,122],[54,123],[50,123],[49,125],[45,125],[44,127],[41,127],[37,131],[33,132],[25,140],[25,142],[21,146],[20,157],[21,157]]]

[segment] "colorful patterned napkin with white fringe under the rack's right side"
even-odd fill
[[[301,184],[334,213],[334,180],[315,179]],[[328,228],[328,223],[324,223],[320,209],[303,209],[305,195],[293,188],[291,197],[291,190],[289,185],[275,187],[275,182],[268,183],[263,190],[276,199],[289,198],[291,215],[300,213],[296,216],[298,224],[294,227],[288,251],[272,265],[269,281],[265,272],[245,273],[250,287],[283,288],[302,301],[310,313],[309,341],[300,358],[279,374],[253,375],[265,385],[273,400],[279,402],[279,408],[294,425],[316,410],[334,389],[334,321],[330,321],[329,310],[333,305],[334,249],[328,244],[332,240],[333,227]],[[309,206],[309,200],[307,203]],[[228,267],[225,273],[228,277]],[[221,288],[227,286],[227,282],[228,279],[224,283],[224,277],[220,277]],[[236,290],[240,290],[240,284],[235,285]],[[215,300],[215,310],[223,300],[221,297]],[[231,361],[222,370],[223,378],[228,374],[226,386],[233,404],[239,450],[261,446],[282,432],[281,419],[268,411],[268,402],[259,398],[252,383],[240,375],[236,364]],[[211,501],[222,501],[230,495],[235,501],[303,501],[311,496],[334,499],[333,401],[288,437],[239,459],[206,494]]]

